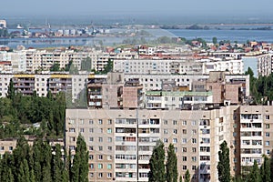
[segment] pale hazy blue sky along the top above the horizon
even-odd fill
[[[272,15],[272,0],[1,0],[5,15]]]

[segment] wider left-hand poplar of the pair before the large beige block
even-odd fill
[[[150,182],[165,182],[165,151],[164,144],[161,140],[157,141],[156,147],[153,149],[152,157],[149,160],[150,171],[148,181]]]

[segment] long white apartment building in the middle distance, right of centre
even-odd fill
[[[114,71],[126,74],[209,74],[210,71],[229,71],[230,74],[243,74],[241,59],[115,59]]]

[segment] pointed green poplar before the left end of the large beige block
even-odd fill
[[[76,139],[76,154],[71,170],[71,181],[88,182],[88,151],[85,138],[81,135]]]

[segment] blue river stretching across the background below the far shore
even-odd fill
[[[146,29],[152,37],[147,39],[157,38],[159,36],[179,36],[187,39],[203,38],[207,42],[212,42],[215,36],[217,40],[230,40],[231,42],[246,43],[249,41],[264,41],[273,43],[273,30],[231,30],[231,29],[209,29],[209,30],[189,30],[189,29]],[[96,37],[58,37],[58,38],[2,38],[0,45],[8,45],[15,48],[17,45],[25,47],[57,47],[69,45],[103,45],[120,44],[127,38],[137,37],[121,37],[121,36],[96,36]]]

